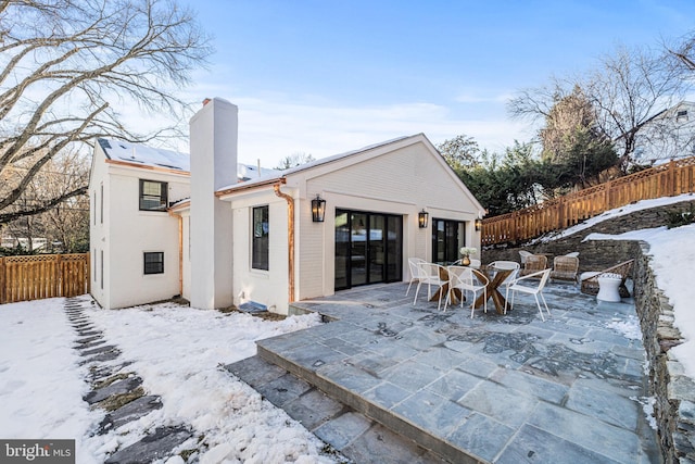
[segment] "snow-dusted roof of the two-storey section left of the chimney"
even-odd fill
[[[190,172],[191,163],[188,153],[152,148],[142,143],[131,143],[123,140],[99,139],[99,145],[106,156],[114,161],[141,164],[143,166],[165,167],[182,172]]]

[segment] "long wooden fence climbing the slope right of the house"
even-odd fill
[[[561,198],[483,220],[481,244],[529,240],[634,201],[695,191],[695,158],[671,161]]]

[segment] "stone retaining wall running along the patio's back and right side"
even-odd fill
[[[656,284],[647,243],[631,240],[582,240],[593,233],[618,235],[662,226],[668,223],[670,212],[687,211],[693,203],[695,201],[685,201],[633,212],[547,243],[496,246],[482,251],[483,263],[496,260],[519,262],[519,250],[553,256],[579,251],[580,272],[599,271],[623,261],[635,260],[631,271],[635,309],[647,353],[649,394],[655,398],[654,415],[666,464],[695,464],[695,380],[684,375],[682,364],[669,352],[683,342],[681,333],[673,325],[673,306]],[[548,262],[548,266],[552,265]]]

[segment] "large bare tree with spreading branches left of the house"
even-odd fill
[[[0,2],[0,224],[86,192],[86,184],[75,185],[20,204],[65,150],[84,152],[101,136],[143,142],[172,134],[172,124],[128,128],[118,109],[181,118],[187,105],[175,92],[205,64],[207,43],[175,0]]]

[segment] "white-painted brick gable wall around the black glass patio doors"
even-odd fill
[[[359,156],[358,156],[359,158]],[[480,204],[422,137],[406,139],[324,168],[288,177],[288,186],[304,192],[298,223],[298,299],[334,293],[336,210],[353,210],[403,216],[403,279],[409,279],[407,258],[431,260],[431,221],[466,223],[465,242],[480,249],[473,222]],[[326,200],[326,220],[313,223],[311,199]],[[429,213],[430,225],[418,227],[418,212]]]

